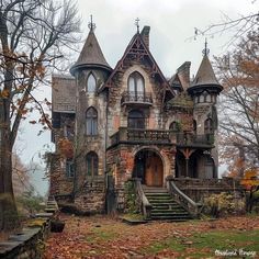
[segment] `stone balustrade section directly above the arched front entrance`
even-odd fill
[[[111,144],[119,143],[172,143],[170,131],[162,130],[142,130],[120,127],[119,132],[111,136]]]

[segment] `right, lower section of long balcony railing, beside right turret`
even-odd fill
[[[212,147],[214,134],[195,135],[193,133],[177,133],[177,146],[181,147]]]

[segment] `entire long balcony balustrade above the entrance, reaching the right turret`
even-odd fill
[[[111,136],[111,145],[117,144],[172,144],[178,147],[212,148],[214,146],[214,135],[194,135],[191,133],[174,133],[164,130],[120,127]]]

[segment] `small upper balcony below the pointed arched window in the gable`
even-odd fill
[[[151,93],[124,91],[122,94],[121,104],[140,104],[150,106],[153,105]]]

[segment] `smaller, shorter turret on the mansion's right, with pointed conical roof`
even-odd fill
[[[204,178],[216,178],[218,166],[217,154],[217,95],[223,90],[213,71],[209,59],[209,48],[205,42],[203,59],[192,85],[188,88],[188,93],[194,102],[193,124],[198,136],[211,138],[214,143],[212,150],[206,150],[203,160]],[[214,170],[213,170],[214,168]]]

